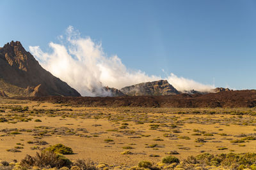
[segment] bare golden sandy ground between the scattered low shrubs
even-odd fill
[[[51,103],[36,103],[24,101],[24,103],[14,103],[12,101],[1,101],[0,106],[29,106],[29,111],[33,109],[70,109],[71,106],[61,106],[60,104],[51,104]],[[125,108],[126,109],[126,108]],[[231,143],[232,139],[241,139],[236,137],[239,134],[253,134],[255,132],[254,117],[243,115],[241,122],[249,122],[249,125],[240,124],[237,125],[239,119],[234,122],[230,118],[237,118],[237,115],[227,115],[227,114],[218,114],[218,115],[195,115],[195,114],[186,114],[179,115],[174,113],[167,112],[154,112],[154,110],[149,110],[147,117],[154,120],[154,122],[145,122],[144,124],[137,124],[135,120],[140,119],[145,115],[143,111],[138,111],[137,108],[129,108],[130,111],[127,111],[125,114],[125,109],[122,108],[122,111],[118,111],[118,108],[72,108],[72,111],[56,111],[60,113],[56,117],[49,117],[45,114],[37,115],[28,115],[29,118],[32,118],[29,122],[19,122],[16,121],[16,124],[9,122],[1,122],[0,130],[3,129],[36,129],[38,126],[46,126],[54,128],[67,127],[68,129],[73,129],[74,134],[51,134],[51,136],[39,136],[42,139],[36,139],[35,132],[26,132],[20,131],[21,134],[6,134],[6,132],[0,132],[0,160],[11,161],[13,159],[21,160],[27,154],[35,155],[38,150],[31,150],[31,147],[37,146],[35,143],[29,144],[28,141],[46,141],[48,147],[57,143],[62,143],[67,145],[74,151],[73,155],[66,155],[69,159],[90,159],[93,162],[105,162],[111,165],[134,165],[138,164],[140,160],[150,160],[152,162],[159,162],[166,153],[176,150],[179,152],[179,155],[175,155],[180,159],[184,159],[189,155],[198,155],[200,153],[243,153],[243,152],[256,152],[256,140],[255,141],[246,141],[245,143]],[[4,108],[4,113],[1,113],[1,117],[19,117],[21,113],[15,113],[11,109]],[[131,110],[134,110],[131,113]],[[169,111],[170,112],[170,111]],[[61,117],[68,113],[69,115],[74,114],[74,117]],[[76,114],[80,113],[84,115],[83,117],[77,116]],[[15,115],[16,114],[16,115]],[[28,113],[29,114],[29,113]],[[88,115],[91,115],[88,118]],[[101,116],[101,115],[104,116]],[[97,117],[95,116],[97,115]],[[99,118],[100,117],[100,118]],[[111,118],[117,118],[113,120]],[[131,121],[127,121],[127,119]],[[164,122],[164,118],[166,121]],[[172,121],[169,121],[168,118],[173,118]],[[42,120],[42,122],[35,122],[36,119]],[[15,118],[13,119],[13,121]],[[125,121],[124,121],[125,120]],[[142,119],[143,120],[143,119]],[[159,122],[157,122],[159,120]],[[171,120],[171,119],[170,119]],[[187,120],[198,120],[188,122]],[[205,120],[205,122],[204,122]],[[217,122],[214,120],[218,120]],[[179,122],[181,121],[181,122]],[[184,123],[185,121],[185,123]],[[187,122],[186,122],[187,121]],[[231,122],[230,122],[231,121]],[[175,122],[175,123],[173,123]],[[203,122],[203,123],[202,123]],[[122,125],[127,123],[128,125]],[[167,126],[164,126],[166,124]],[[173,128],[170,125],[177,125]],[[152,125],[159,125],[157,129],[150,129]],[[126,129],[120,129],[120,127],[125,126]],[[77,128],[86,129],[84,131],[77,131]],[[112,129],[112,131],[109,131]],[[113,129],[115,131],[113,131]],[[49,130],[49,129],[48,129]],[[179,131],[179,133],[173,132],[173,130]],[[50,131],[50,130],[49,130]],[[127,131],[127,132],[124,132]],[[132,131],[132,134],[129,132]],[[205,132],[202,132],[205,131]],[[164,134],[174,134],[177,137],[164,137]],[[196,133],[201,134],[200,136],[195,136]],[[213,136],[204,136],[204,133],[212,134]],[[227,134],[227,136],[221,136],[220,134]],[[76,136],[76,134],[83,134],[84,136]],[[86,136],[87,135],[87,136]],[[95,136],[97,135],[97,136]],[[144,136],[141,136],[144,135]],[[148,137],[145,137],[147,136]],[[88,136],[91,136],[88,138]],[[134,138],[136,136],[137,138]],[[180,136],[186,136],[190,139],[180,139]],[[132,138],[131,138],[132,137]],[[106,142],[105,139],[113,139],[113,141]],[[196,143],[195,139],[204,138],[205,143]],[[208,138],[208,139],[207,139]],[[163,139],[159,141],[156,139]],[[24,148],[20,148],[21,152],[7,152],[7,149],[14,148],[20,143],[24,145]],[[132,145],[131,145],[132,144]],[[157,144],[155,148],[147,148],[148,145]],[[240,146],[239,146],[240,145]],[[242,146],[241,146],[242,145]],[[245,145],[245,146],[243,146]],[[121,154],[127,149],[122,147],[132,146],[133,149],[129,151],[132,154],[123,155]],[[188,150],[184,150],[184,147]],[[225,150],[218,150],[220,147],[225,147]],[[157,155],[158,157],[150,157],[150,155]]]

